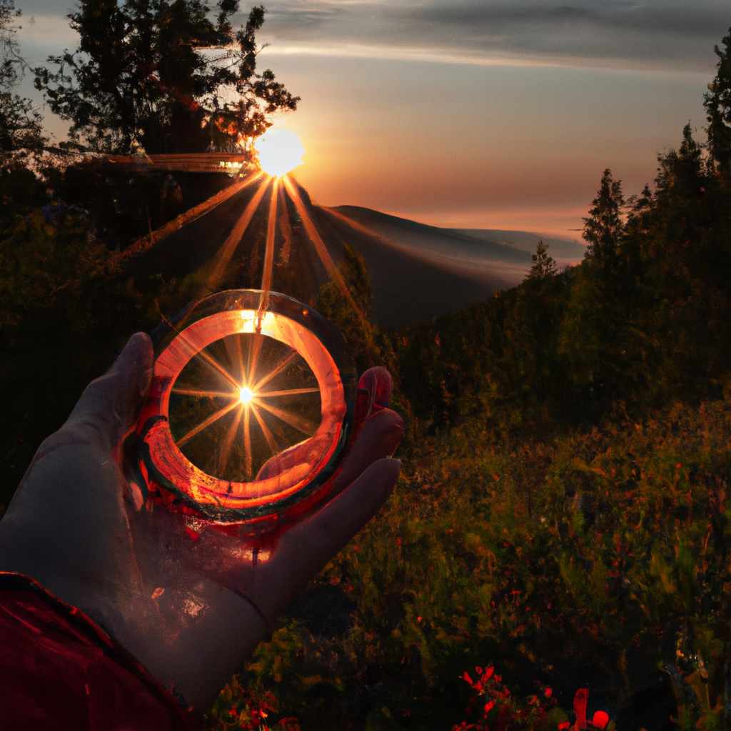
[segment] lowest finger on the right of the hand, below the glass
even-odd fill
[[[263,569],[265,582],[257,591],[260,607],[276,617],[382,507],[398,479],[401,462],[382,459],[372,464],[335,500],[304,523],[287,531]]]

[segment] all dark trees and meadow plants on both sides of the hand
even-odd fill
[[[119,20],[92,5],[72,15],[83,41]],[[193,0],[159,6],[187,8],[159,27],[188,23],[199,45],[235,37],[232,3],[216,23]],[[230,183],[110,171],[100,154],[227,150],[295,108],[257,75],[263,18],[236,37],[230,76],[196,66],[190,41],[175,52],[208,86],[175,91],[168,69],[136,107],[135,68],[117,68],[115,106],[94,48],[27,69],[0,0],[0,511],[126,338],[198,292],[195,272],[140,273],[118,254]],[[129,60],[136,43],[102,50]],[[583,727],[731,727],[731,30],[716,54],[708,126],[678,131],[653,183],[628,195],[597,175],[580,265],[558,270],[539,246],[520,286],[390,332],[322,287],[312,304],[359,371],[393,374],[401,479],[222,689],[209,728],[553,731],[582,726],[578,689]],[[64,147],[16,93],[26,72],[72,123]],[[210,102],[226,84],[243,106]],[[340,267],[367,310],[355,249]],[[251,285],[245,268],[227,280]]]

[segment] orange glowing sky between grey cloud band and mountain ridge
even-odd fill
[[[302,96],[276,126],[302,140],[295,173],[319,202],[445,227],[574,238],[605,167],[639,192],[656,154],[705,121],[700,73],[265,61]]]

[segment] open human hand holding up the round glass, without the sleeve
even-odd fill
[[[374,401],[336,475],[341,494],[254,550],[215,526],[125,500],[121,440],[147,393],[152,346],[133,336],[69,420],[39,447],[0,522],[0,569],[33,577],[79,607],[164,686],[205,710],[273,621],[379,510],[398,477],[403,433],[390,378],[366,374]],[[139,507],[139,504],[137,504]]]

